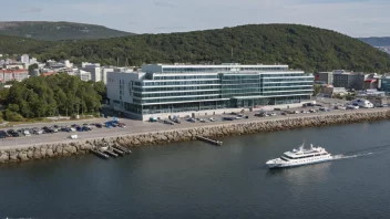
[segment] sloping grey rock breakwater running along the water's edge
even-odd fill
[[[343,115],[318,115],[310,117],[285,118],[276,121],[257,121],[203,126],[168,132],[136,134],[127,136],[88,139],[79,142],[41,144],[30,147],[0,149],[0,163],[27,161],[42,158],[54,158],[78,154],[88,154],[93,147],[119,145],[136,147],[145,145],[163,145],[174,142],[195,140],[196,136],[223,137],[267,133],[302,127],[319,127],[333,124],[349,124],[389,119],[390,111],[371,113],[349,113]]]

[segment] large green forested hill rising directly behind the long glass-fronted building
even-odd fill
[[[40,50],[39,58],[72,58],[75,62],[102,64],[115,64],[119,58],[120,64],[127,59],[132,65],[238,62],[284,63],[310,72],[333,69],[390,71],[389,54],[333,31],[297,24],[250,24],[184,33],[58,42]]]

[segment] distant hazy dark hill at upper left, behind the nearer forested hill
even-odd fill
[[[103,25],[71,22],[10,21],[0,22],[0,34],[30,38],[35,40],[106,39],[133,35]]]

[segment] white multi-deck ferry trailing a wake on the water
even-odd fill
[[[314,147],[310,145],[310,149],[304,149],[304,145],[305,143],[299,149],[286,152],[281,157],[268,160],[266,165],[269,168],[284,168],[329,161],[332,159],[332,156],[322,147]]]

